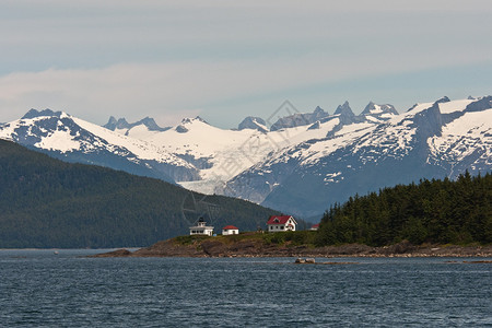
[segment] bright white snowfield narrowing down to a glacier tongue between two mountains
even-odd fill
[[[289,145],[291,138],[305,130],[306,127],[268,133],[255,129],[224,130],[197,117],[184,119],[163,132],[130,129],[128,136],[155,144],[192,164],[200,169],[200,179],[178,180],[179,184],[211,194],[224,181],[261,162],[270,152]]]

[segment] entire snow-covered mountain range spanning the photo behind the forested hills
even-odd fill
[[[420,103],[402,114],[348,102],[330,115],[289,102],[269,118],[220,129],[200,117],[161,128],[112,117],[99,127],[62,112],[30,110],[0,138],[51,156],[156,177],[204,194],[318,218],[355,194],[492,168],[492,96]]]

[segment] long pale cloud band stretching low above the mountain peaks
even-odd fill
[[[0,117],[12,120],[31,107],[61,109],[98,122],[109,115],[127,116],[128,119],[149,115],[164,120],[166,116],[183,118],[185,114],[204,113],[202,115],[207,117],[207,109],[213,109],[214,104],[237,103],[282,92],[289,94],[321,83],[356,81],[456,62],[436,59],[438,66],[434,61],[412,61],[411,54],[396,60],[388,60],[386,56],[366,56],[358,61],[314,54],[261,62],[130,63],[91,70],[11,73],[0,77]],[[401,61],[407,62],[402,66]],[[171,119],[165,121],[169,124]]]

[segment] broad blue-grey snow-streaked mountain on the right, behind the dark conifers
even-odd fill
[[[356,192],[423,177],[454,178],[466,169],[488,172],[492,169],[491,108],[491,96],[443,98],[415,105],[384,122],[345,125],[326,138],[269,155],[227,181],[225,190],[308,216]]]

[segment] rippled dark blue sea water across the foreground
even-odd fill
[[[490,263],[94,253],[0,250],[0,326],[492,327]]]

